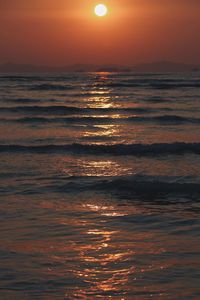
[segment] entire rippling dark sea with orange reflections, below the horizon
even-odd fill
[[[200,299],[200,74],[0,76],[0,299]]]

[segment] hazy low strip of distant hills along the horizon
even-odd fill
[[[132,67],[118,65],[74,64],[69,66],[38,66],[32,64],[0,64],[0,73],[66,73],[66,72],[197,72],[200,66],[160,61],[137,64]]]

